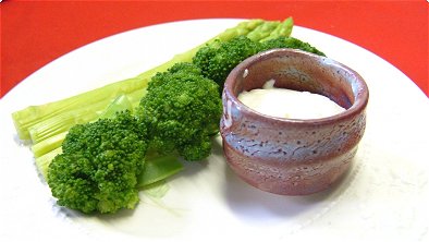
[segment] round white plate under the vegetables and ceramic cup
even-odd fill
[[[114,35],[54,60],[7,94],[0,101],[1,241],[428,239],[427,97],[376,55],[298,26],[292,36],[355,69],[370,90],[366,134],[351,173],[336,187],[304,197],[258,191],[230,171],[217,145],[207,162],[193,164],[173,179],[161,199],[142,193],[134,211],[82,216],[54,205],[32,153],[17,141],[10,113],[134,76],[237,22],[185,21]]]

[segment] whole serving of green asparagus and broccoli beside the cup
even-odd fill
[[[220,90],[240,62],[272,48],[323,55],[290,37],[293,21],[244,21],[166,63],[12,114],[58,204],[84,213],[134,208],[138,191],[211,153]]]

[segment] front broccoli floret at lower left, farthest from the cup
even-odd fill
[[[48,168],[48,184],[58,204],[84,213],[114,213],[138,203],[147,129],[130,111],[112,119],[77,124]]]

